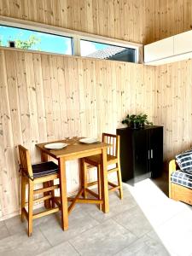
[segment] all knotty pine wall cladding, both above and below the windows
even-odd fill
[[[0,0],[0,15],[148,44],[191,29],[190,0]],[[115,131],[127,111],[165,126],[169,160],[191,146],[191,61],[162,67],[1,49],[0,217],[18,211],[23,143]],[[59,93],[55,93],[55,88]],[[82,100],[83,99],[83,100]],[[43,104],[42,104],[43,102]],[[107,111],[106,111],[107,110]],[[69,162],[68,191],[78,186]]]

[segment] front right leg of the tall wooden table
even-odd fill
[[[107,166],[107,148],[102,148],[102,212],[109,212],[108,204],[108,166]]]

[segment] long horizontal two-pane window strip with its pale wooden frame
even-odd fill
[[[0,46],[53,54],[143,63],[143,45],[85,32],[1,17]]]

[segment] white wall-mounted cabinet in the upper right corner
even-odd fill
[[[163,65],[192,58],[192,31],[144,46],[145,65]]]

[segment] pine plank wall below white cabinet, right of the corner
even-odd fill
[[[157,68],[157,123],[164,125],[164,159],[192,147],[192,60]]]

